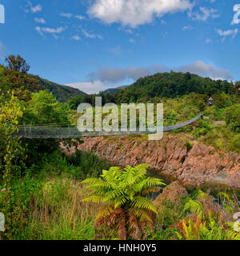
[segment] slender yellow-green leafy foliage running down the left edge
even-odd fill
[[[14,204],[14,178],[18,166],[24,159],[19,138],[13,137],[18,131],[18,118],[22,116],[19,101],[10,93],[9,100],[0,100],[0,178],[3,192],[0,191],[0,211],[6,218],[6,238],[11,238],[21,223],[21,206]],[[0,96],[1,99],[1,96]],[[20,170],[21,171],[21,170]]]

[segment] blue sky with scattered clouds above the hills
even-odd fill
[[[0,62],[20,54],[30,73],[87,93],[169,70],[240,80],[240,0],[0,4]]]

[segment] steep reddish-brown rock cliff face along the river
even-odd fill
[[[175,178],[183,186],[221,184],[240,189],[240,154],[217,152],[201,142],[166,134],[161,141],[142,138],[86,138],[78,146],[119,166],[147,163],[155,170]]]

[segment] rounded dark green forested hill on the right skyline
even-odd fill
[[[138,79],[123,90],[106,94],[107,101],[147,102],[151,98],[177,98],[182,95],[196,94],[234,94],[234,83],[202,78],[190,73],[159,73]]]

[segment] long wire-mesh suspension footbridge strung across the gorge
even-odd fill
[[[195,118],[189,121],[179,123],[174,126],[164,126],[163,131],[170,131],[188,126],[191,123],[201,118],[203,114],[199,114]],[[156,129],[157,130],[157,129]],[[18,133],[14,134],[15,137],[21,138],[87,138],[87,137],[114,137],[114,136],[129,136],[129,135],[144,135],[144,134],[156,134],[156,131],[118,131],[118,132],[96,132],[87,131],[80,132],[77,127],[50,127],[50,126],[18,126]]]

